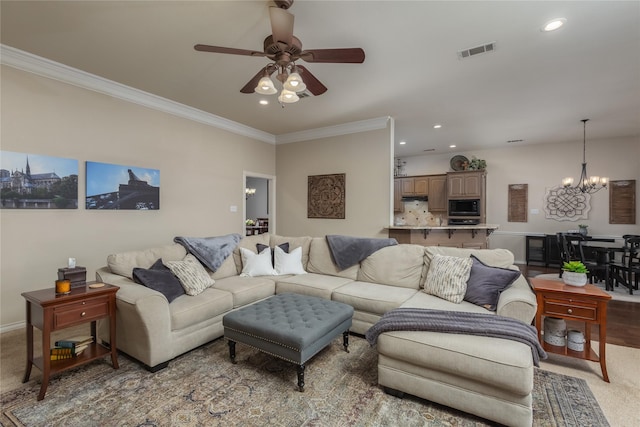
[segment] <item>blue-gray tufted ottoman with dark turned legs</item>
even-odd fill
[[[283,293],[243,307],[222,318],[229,356],[236,342],[298,365],[298,389],[304,391],[305,363],[342,333],[349,352],[353,307],[323,298]]]

